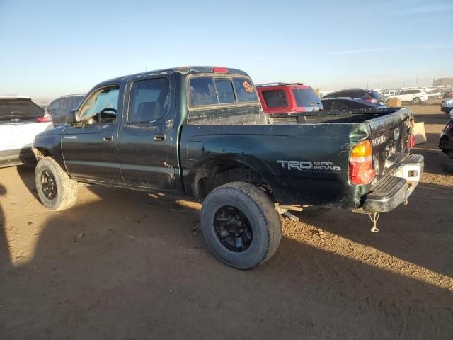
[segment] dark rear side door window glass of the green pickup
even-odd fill
[[[154,78],[135,81],[129,105],[130,124],[151,123],[167,113],[168,79]]]

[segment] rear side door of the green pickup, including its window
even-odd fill
[[[174,190],[170,79],[166,76],[131,81],[127,120],[120,127],[121,172],[139,188]]]

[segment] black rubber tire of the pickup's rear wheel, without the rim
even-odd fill
[[[214,229],[214,217],[220,208],[240,210],[250,222],[253,237],[244,251],[231,251],[221,242]],[[246,182],[231,182],[215,188],[205,198],[201,210],[201,229],[214,255],[227,266],[251,269],[270,259],[280,244],[280,215],[266,193]]]

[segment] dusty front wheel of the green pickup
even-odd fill
[[[77,181],[51,157],[40,159],[36,165],[35,185],[42,205],[49,210],[68,209],[76,203]]]

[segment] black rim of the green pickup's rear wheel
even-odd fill
[[[231,251],[245,251],[252,243],[253,232],[248,218],[231,205],[224,205],[215,213],[214,231],[220,243]]]

